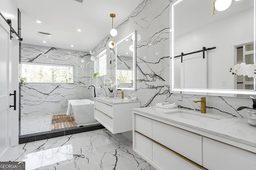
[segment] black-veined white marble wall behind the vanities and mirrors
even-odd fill
[[[136,96],[141,101],[141,107],[169,101],[169,103],[176,102],[182,108],[200,110],[200,103],[192,102],[198,100],[196,97],[201,97],[200,95],[170,92],[170,3],[171,0],[144,0],[116,27],[118,35],[114,37],[115,42],[132,30],[137,30],[137,34],[141,36],[136,48],[137,90],[125,91],[124,97]],[[109,49],[110,40],[108,35],[94,48],[98,53],[107,47],[107,75],[94,78],[92,81],[97,87],[97,97],[108,96],[107,82],[109,79],[115,82],[115,50]],[[120,94],[115,94],[115,97],[120,97]],[[212,113],[245,118],[246,110],[236,111],[236,109],[251,105],[252,100],[248,98],[206,96],[207,111]]]

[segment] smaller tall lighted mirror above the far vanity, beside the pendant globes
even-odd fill
[[[136,30],[116,43],[117,89],[136,89]]]

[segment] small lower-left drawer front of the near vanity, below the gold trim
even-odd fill
[[[136,132],[134,133],[134,141],[134,150],[140,151],[152,160],[152,141]]]

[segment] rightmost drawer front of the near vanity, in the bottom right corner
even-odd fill
[[[204,167],[209,170],[255,170],[256,154],[203,137]]]

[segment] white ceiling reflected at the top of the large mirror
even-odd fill
[[[213,0],[183,0],[174,6],[175,37],[239,12],[253,10],[253,7],[254,0],[232,0],[232,4],[227,10],[222,12],[215,10],[215,14],[213,14]]]

